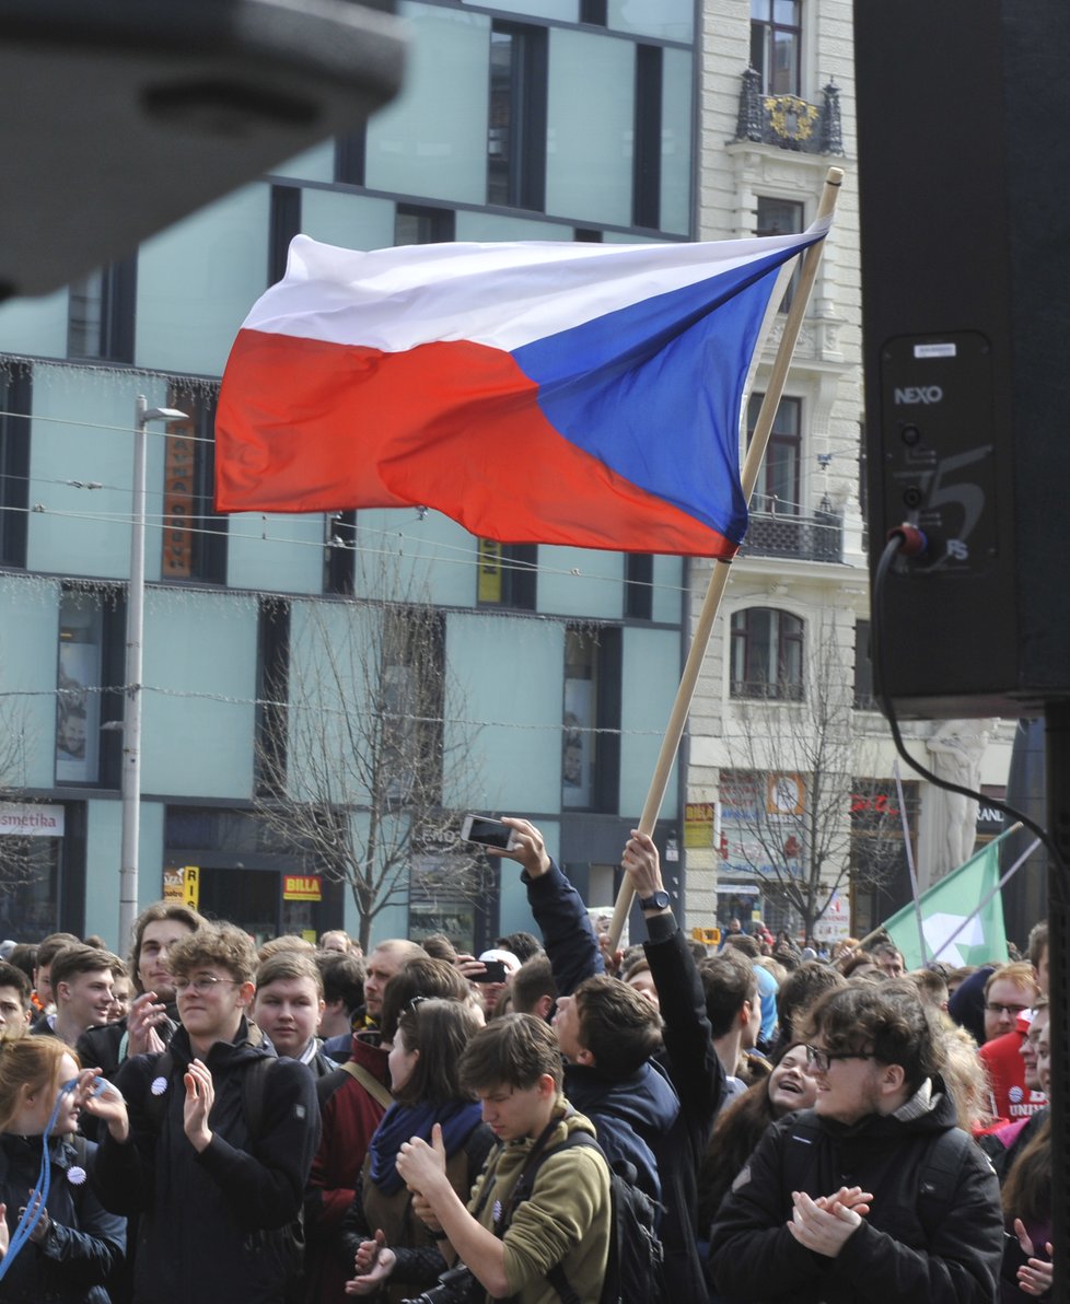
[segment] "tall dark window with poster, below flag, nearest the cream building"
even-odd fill
[[[561,730],[561,805],[566,808],[617,808],[620,698],[620,630],[569,629]]]

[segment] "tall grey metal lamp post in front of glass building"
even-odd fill
[[[133,935],[137,917],[138,837],[141,836],[141,673],[145,638],[145,428],[150,421],[183,421],[176,408],[134,403],[133,522],[130,585],[127,593],[127,703],[123,712],[123,845],[119,870],[119,947]]]

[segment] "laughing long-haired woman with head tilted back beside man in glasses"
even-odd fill
[[[769,1124],[792,1110],[813,1108],[816,1099],[806,1047],[793,1042],[780,1052],[769,1077],[722,1110],[698,1170],[698,1226],[703,1232]]]

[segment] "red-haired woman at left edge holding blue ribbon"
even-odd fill
[[[106,1213],[86,1181],[97,1148],[76,1136],[78,1074],[56,1037],[0,1041],[0,1241],[10,1241],[0,1245],[0,1300],[106,1304],[106,1283],[123,1260],[127,1222]]]

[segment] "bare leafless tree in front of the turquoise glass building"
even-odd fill
[[[445,627],[401,562],[361,591],[291,605],[288,695],[274,685],[257,746],[256,810],[314,872],[344,883],[360,941],[410,895],[478,900],[485,861],[446,793],[475,790],[475,730],[445,664]],[[288,700],[287,700],[288,696]]]

